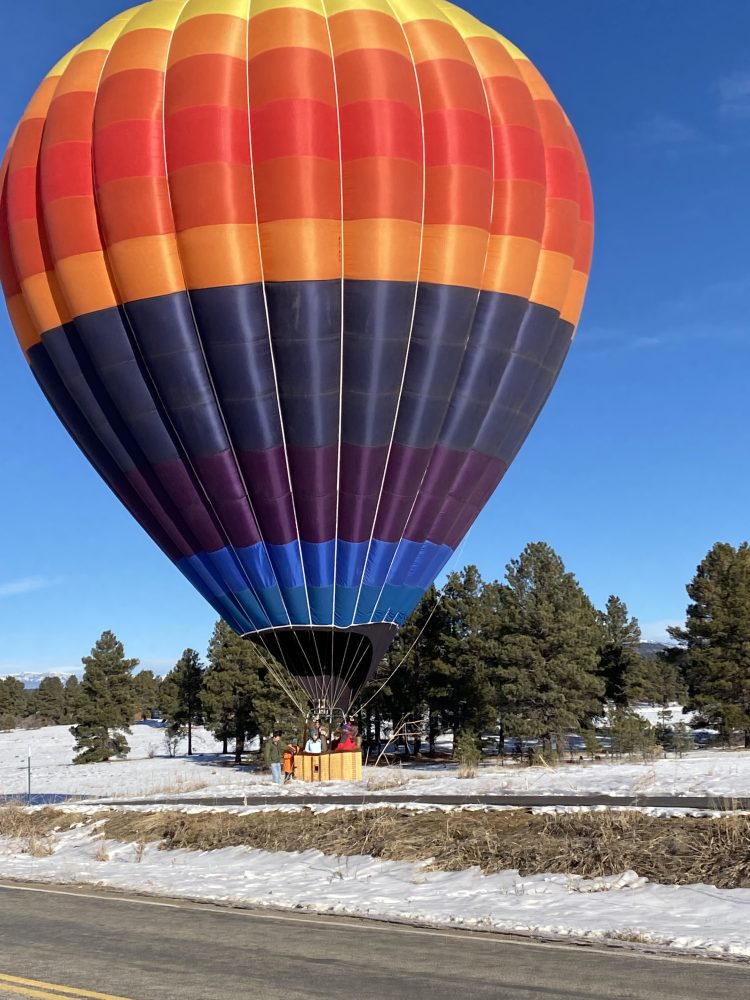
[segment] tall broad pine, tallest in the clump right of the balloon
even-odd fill
[[[495,677],[507,733],[560,740],[600,714],[597,613],[562,559],[544,542],[507,567],[495,614]]]

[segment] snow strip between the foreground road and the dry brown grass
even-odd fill
[[[250,848],[160,851],[102,842],[91,828],[56,835],[54,853],[31,857],[0,841],[0,875],[137,890],[233,906],[304,909],[370,919],[619,940],[715,956],[750,957],[750,889],[663,886],[634,872],[608,878],[428,871],[424,864],[319,851]],[[105,858],[106,860],[101,860]]]

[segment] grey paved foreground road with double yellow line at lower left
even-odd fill
[[[45,1000],[746,1000],[750,990],[748,965],[8,884],[0,942],[0,996]]]

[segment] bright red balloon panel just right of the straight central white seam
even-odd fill
[[[367,101],[341,109],[341,149],[346,160],[398,156],[422,162],[419,115],[396,101]]]

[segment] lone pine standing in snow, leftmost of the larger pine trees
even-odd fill
[[[107,631],[81,662],[85,670],[78,724],[70,730],[78,751],[73,762],[91,764],[125,757],[130,747],[124,733],[130,732],[136,707],[132,671],[138,660],[126,659],[122,643]]]

